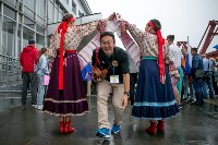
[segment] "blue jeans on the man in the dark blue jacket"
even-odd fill
[[[195,97],[196,97],[196,104],[202,104],[204,98],[204,92],[205,92],[205,85],[202,78],[193,78],[193,85],[195,89]]]

